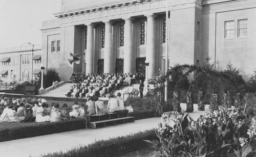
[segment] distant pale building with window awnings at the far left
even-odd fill
[[[8,85],[16,81],[37,80],[41,68],[41,45],[30,43],[0,49],[0,80]]]

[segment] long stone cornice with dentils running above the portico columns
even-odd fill
[[[121,3],[122,2],[122,3]],[[168,9],[172,10],[174,7],[186,6],[196,4],[202,6],[202,0],[167,0]],[[106,18],[122,18],[123,16],[144,15],[152,13],[155,10],[162,10],[166,8],[166,0],[139,0],[139,1],[120,1],[117,4],[111,4],[100,7],[81,8],[67,12],[60,12],[54,14],[56,17],[62,19],[61,24],[81,23],[88,21],[102,21]],[[172,9],[171,9],[172,8]]]

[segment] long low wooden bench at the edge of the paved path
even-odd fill
[[[105,127],[106,125],[124,124],[127,122],[134,122],[134,121],[135,121],[135,117],[122,117],[122,118],[89,122],[87,123],[87,127],[95,129],[97,127]]]

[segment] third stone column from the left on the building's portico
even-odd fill
[[[123,73],[133,72],[133,18],[126,18],[124,24]]]

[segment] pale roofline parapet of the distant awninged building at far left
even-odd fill
[[[41,45],[34,45],[31,43],[25,43],[18,47],[8,47],[0,49],[0,53],[12,53],[12,52],[24,52],[24,51],[31,51],[31,50],[39,50],[41,49]]]

